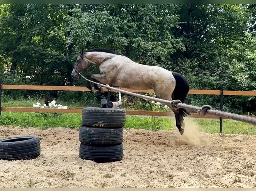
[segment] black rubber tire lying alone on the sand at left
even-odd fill
[[[0,159],[25,160],[41,153],[40,139],[36,136],[19,136],[0,140]]]

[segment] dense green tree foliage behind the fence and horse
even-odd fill
[[[79,51],[106,48],[179,72],[191,89],[224,83],[225,90],[252,91],[255,18],[255,4],[1,4],[0,74],[6,84],[84,85],[70,77]],[[225,109],[253,112],[255,100],[225,96]],[[219,100],[189,95],[187,101],[218,108]]]

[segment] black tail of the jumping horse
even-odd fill
[[[184,76],[177,72],[172,72],[173,77],[176,81],[176,86],[172,93],[172,99],[179,99],[182,103],[185,102],[185,98],[189,91],[189,84]],[[182,114],[184,117],[187,115],[191,115],[190,112],[186,109],[179,108],[179,113]]]

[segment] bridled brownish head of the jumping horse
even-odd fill
[[[84,49],[78,55],[74,69],[71,73],[71,78],[78,80],[80,75],[79,73],[85,72],[90,66],[90,61],[84,55]]]

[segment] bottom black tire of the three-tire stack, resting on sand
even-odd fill
[[[114,146],[91,146],[80,143],[79,157],[97,163],[116,162],[123,159],[123,144]]]

